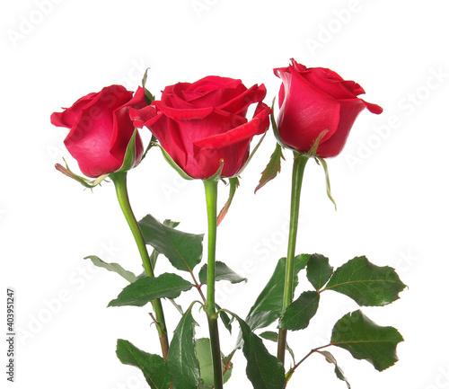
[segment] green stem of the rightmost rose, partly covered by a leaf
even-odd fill
[[[293,302],[293,278],[295,274],[295,249],[296,236],[298,233],[299,199],[301,197],[301,186],[303,184],[304,168],[308,157],[295,153],[292,173],[292,198],[290,204],[290,234],[288,236],[288,250],[286,256],[286,284],[284,287],[284,300],[282,309]],[[284,364],[286,358],[286,330],[279,329],[277,341],[277,358]]]

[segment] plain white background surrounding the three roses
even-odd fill
[[[448,11],[443,0],[9,2],[0,16],[0,311],[5,318],[5,288],[13,287],[21,336],[16,382],[9,385],[2,372],[2,387],[144,388],[141,373],[116,358],[116,340],[159,350],[145,308],[106,308],[126,281],[83,260],[96,254],[140,271],[112,184],[92,193],[54,169],[63,156],[77,166],[62,143],[67,131],[50,124],[51,112],[105,85],[135,90],[147,66],[156,97],[167,84],[225,75],[248,87],[266,84],[270,103],[280,84],[272,68],[287,66],[290,57],[357,81],[365,99],[384,109],[380,116],[365,110],[343,153],[328,161],[337,212],[321,168],[307,166],[298,252],[321,252],[334,267],[362,254],[395,267],[409,286],[401,300],[364,312],[398,328],[406,341],[400,361],[383,373],[345,350],[334,355],[356,389],[449,386]],[[274,145],[269,135],[219,227],[218,259],[250,280],[223,283],[217,298],[242,316],[286,254],[289,153],[276,181],[253,194]],[[180,180],[159,151],[128,176],[137,217],[152,213],[180,221],[184,231],[206,231],[201,182]],[[226,190],[220,186],[221,203]],[[165,262],[156,272],[170,270]],[[192,298],[194,291],[184,301]],[[296,357],[329,341],[332,324],[355,309],[344,296],[323,296],[311,329],[289,334]],[[172,306],[166,310],[172,330],[179,316]],[[200,335],[207,333],[202,315],[195,312]],[[225,330],[222,339],[227,353],[233,340]],[[0,344],[4,371],[6,342]],[[227,387],[251,388],[244,359],[234,362]],[[290,386],[346,387],[318,355],[298,368]]]

